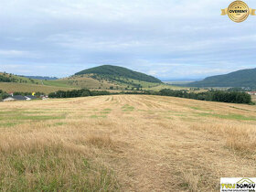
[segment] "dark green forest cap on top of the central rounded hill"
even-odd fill
[[[131,69],[126,69],[118,66],[112,66],[112,65],[103,65],[96,68],[91,69],[85,69],[82,70],[75,75],[84,75],[84,74],[96,74],[100,76],[104,76],[105,78],[112,77],[122,77],[127,79],[133,79],[133,80],[142,80],[146,82],[157,82],[161,83],[161,80],[156,79],[153,76],[146,75],[141,72],[136,72]]]

